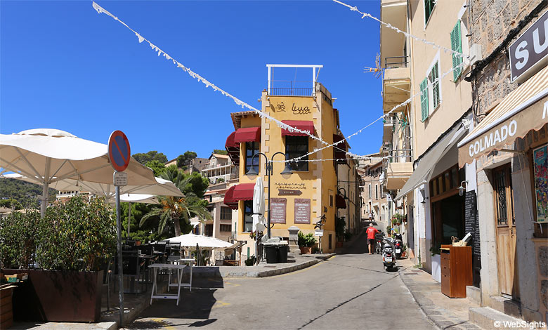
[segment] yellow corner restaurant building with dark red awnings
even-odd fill
[[[263,91],[261,96],[261,111],[289,126],[310,131],[314,136],[331,144],[334,139],[340,138],[337,135],[340,131],[339,112],[332,107],[331,93],[316,81],[310,83],[309,88],[275,88],[269,84],[268,90]],[[295,93],[301,96],[296,96]],[[252,165],[256,170],[259,167],[259,176],[262,176],[265,185],[265,197],[268,194],[268,176],[265,157],[254,157],[252,164],[253,154],[262,152],[270,161],[273,154],[283,152],[287,159],[294,159],[325,145],[303,133],[282,129],[275,122],[261,118],[252,111],[233,113],[232,119],[235,131],[228,137],[226,148],[233,161],[240,164],[240,180],[239,185],[226,193],[225,204],[238,209],[236,238],[247,240],[249,255],[254,255],[254,241],[249,238],[249,233],[252,230],[255,180],[249,179],[245,174]],[[342,145],[344,144],[341,143],[341,147]],[[337,151],[340,155],[341,150]],[[289,163],[292,169],[289,178],[283,178],[280,174],[285,169],[285,164],[276,162],[284,160],[283,155],[275,156],[270,178],[270,222],[273,225],[273,237],[289,239],[288,228],[292,226],[299,227],[304,234],[314,232],[315,223],[325,216],[321,249],[323,252],[334,251],[337,164],[332,160],[313,161],[334,159],[334,153],[334,148],[329,147],[304,158],[309,161]],[[268,217],[268,200],[265,204],[265,217]],[[244,251],[242,253],[245,254]]]

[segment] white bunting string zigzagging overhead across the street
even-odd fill
[[[379,22],[381,22],[381,20],[379,20],[378,18],[374,18],[374,16],[368,14],[368,13],[363,13],[361,11],[358,11],[358,8],[356,7],[352,7],[348,4],[344,4],[343,2],[341,1],[338,1],[338,0],[333,0],[341,5],[344,5],[344,6],[347,6],[348,8],[351,8],[352,11],[357,11],[358,13],[361,13],[363,16],[362,18],[365,18],[365,17],[370,17],[374,20],[377,20]],[[303,133],[305,134],[306,136],[309,136],[310,138],[313,138],[314,140],[318,140],[320,143],[322,143],[323,145],[325,145],[325,147],[321,147],[321,148],[316,148],[314,149],[312,152],[308,152],[308,154],[304,154],[300,157],[295,157],[293,159],[286,159],[286,160],[275,160],[275,162],[289,162],[289,161],[327,161],[327,160],[346,160],[345,159],[310,159],[310,160],[305,160],[303,159],[304,157],[308,157],[310,156],[311,154],[315,154],[316,152],[320,152],[322,150],[325,150],[329,147],[334,147],[335,149],[337,150],[340,150],[341,152],[345,152],[345,154],[347,154],[348,156],[350,157],[353,157],[355,159],[367,159],[367,158],[370,158],[370,157],[363,157],[363,156],[360,156],[358,154],[353,154],[352,152],[348,152],[346,150],[343,150],[339,147],[337,147],[337,145],[341,144],[341,143],[344,143],[346,140],[349,140],[350,138],[352,138],[353,136],[356,136],[358,135],[359,133],[362,133],[363,130],[365,130],[366,128],[372,126],[373,124],[375,124],[377,121],[381,120],[381,119],[384,119],[386,117],[389,116],[389,114],[391,114],[394,110],[398,109],[398,107],[403,107],[405,105],[407,105],[408,103],[411,102],[411,100],[413,98],[415,98],[417,95],[420,95],[422,93],[422,91],[419,91],[418,93],[416,93],[415,95],[412,95],[410,98],[408,98],[407,100],[405,100],[403,103],[400,103],[399,105],[396,105],[395,107],[393,107],[389,112],[386,112],[386,114],[383,114],[381,117],[375,119],[374,121],[372,121],[370,124],[367,124],[366,126],[364,126],[363,128],[360,128],[360,130],[356,131],[355,133],[352,133],[351,135],[349,136],[346,136],[346,138],[343,138],[335,143],[327,143],[325,142],[324,140],[322,140],[321,138],[319,138],[318,136],[314,136],[313,134],[311,134],[310,132],[308,131],[302,131],[300,130],[299,128],[295,128],[295,127],[292,127],[292,126],[289,126],[285,123],[283,123],[282,121],[278,120],[278,119],[275,119],[273,117],[271,117],[269,114],[266,114],[265,112],[262,112],[261,110],[259,109],[256,109],[256,107],[253,107],[252,105],[249,105],[247,103],[245,103],[244,101],[240,100],[239,98],[236,98],[234,95],[231,95],[230,93],[224,91],[222,88],[219,88],[218,86],[216,86],[215,84],[211,83],[210,81],[208,81],[207,79],[205,79],[204,77],[200,76],[200,74],[197,74],[196,72],[193,72],[192,70],[190,70],[189,67],[186,67],[185,65],[183,65],[181,62],[178,62],[177,60],[175,60],[174,58],[172,58],[168,53],[162,51],[162,49],[160,49],[158,46],[156,46],[155,44],[152,44],[152,42],[150,42],[148,39],[146,39],[145,37],[141,36],[141,34],[139,34],[138,32],[136,32],[134,29],[131,29],[131,27],[129,27],[129,25],[126,25],[125,22],[123,22],[122,20],[119,20],[119,18],[117,18],[117,16],[115,15],[112,15],[112,13],[110,13],[109,11],[106,11],[103,7],[99,6],[95,1],[92,1],[92,6],[93,8],[97,11],[97,13],[104,13],[105,15],[108,15],[110,16],[111,18],[113,18],[114,20],[117,20],[118,22],[120,22],[122,25],[124,25],[125,27],[127,27],[129,30],[131,30],[131,32],[133,32],[136,37],[138,38],[138,42],[141,44],[143,41],[146,41],[150,48],[152,48],[153,51],[157,52],[157,55],[163,55],[164,58],[166,58],[167,60],[171,60],[171,62],[174,63],[174,65],[176,65],[178,68],[181,68],[184,72],[187,72],[190,77],[193,77],[194,79],[197,79],[197,81],[200,81],[202,82],[206,88],[208,87],[211,87],[214,91],[218,91],[219,93],[221,93],[222,95],[228,97],[228,98],[231,98],[237,105],[240,105],[240,107],[242,108],[247,108],[249,110],[252,110],[253,112],[255,112],[256,114],[259,115],[259,117],[261,118],[266,118],[270,121],[273,121],[277,126],[279,126],[280,128],[283,128],[289,132],[299,132],[299,133]],[[417,39],[419,41],[422,41],[422,42],[425,42],[426,44],[431,44],[435,47],[438,47],[438,48],[441,48],[443,49],[443,51],[451,51],[452,53],[457,53],[457,55],[461,55],[461,56],[466,56],[462,53],[458,53],[458,52],[455,52],[455,51],[452,51],[448,48],[445,48],[443,46],[438,46],[434,43],[432,43],[431,41],[426,41],[424,39],[420,39],[418,37],[415,37],[413,36],[412,34],[408,34],[407,32],[403,32],[401,31],[400,29],[396,28],[396,27],[393,27],[391,25],[389,25],[388,23],[384,23],[384,22],[381,22],[381,24],[384,24],[386,25],[387,27],[390,27],[392,29],[396,29],[396,31],[400,32],[400,33],[403,33],[405,34],[406,36],[408,37],[412,37],[413,39]],[[447,76],[448,74],[452,73],[453,70],[457,70],[461,67],[464,67],[465,63],[462,62],[460,65],[457,65],[456,67],[453,67],[451,70],[448,70],[447,72],[444,72],[443,74],[441,74],[440,77],[438,77],[437,79],[435,79],[434,81],[431,81],[431,83],[429,83],[429,85],[426,87],[428,88],[429,86],[433,85],[433,84],[436,84],[436,82],[438,81],[441,81],[442,78],[444,78],[445,76]]]

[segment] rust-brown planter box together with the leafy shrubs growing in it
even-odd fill
[[[28,211],[0,220],[0,267],[4,274],[21,272],[27,268],[27,289],[13,298],[18,313],[14,317],[32,321],[98,322],[103,290],[103,267],[116,249],[115,214],[103,199],[84,202],[73,197],[65,204],[48,207],[44,218]],[[30,225],[36,220],[37,225]],[[18,243],[9,232],[27,225],[27,232]],[[7,237],[5,235],[8,235]],[[19,244],[19,245],[18,245]],[[9,251],[20,249],[20,255]],[[8,251],[4,254],[4,251]],[[36,251],[36,261],[41,270],[29,265],[34,260],[25,257]],[[32,255],[32,253],[31,253]],[[15,294],[15,293],[14,293]],[[20,313],[20,314],[19,314]]]

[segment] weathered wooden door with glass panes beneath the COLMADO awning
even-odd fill
[[[497,268],[500,293],[519,299],[516,265],[516,224],[514,223],[514,190],[511,165],[492,171],[495,197],[495,226],[497,228]]]

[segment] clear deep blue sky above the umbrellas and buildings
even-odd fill
[[[346,136],[381,115],[381,80],[363,73],[379,51],[379,23],[332,1],[96,2],[254,107],[267,63],[316,64]],[[379,16],[379,1],[347,3]],[[58,128],[107,143],[119,129],[132,153],[209,157],[237,111],[91,1],[0,1],[0,133]],[[381,123],[349,143],[357,154],[378,152]]]

